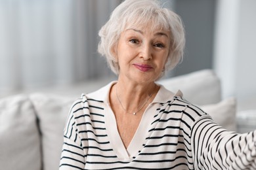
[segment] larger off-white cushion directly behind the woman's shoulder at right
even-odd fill
[[[221,101],[221,83],[212,70],[195,71],[159,81],[172,92],[181,90],[184,98],[193,104],[209,105]]]

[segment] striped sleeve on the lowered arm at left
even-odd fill
[[[70,110],[66,126],[64,128],[64,143],[62,146],[62,154],[60,157],[60,170],[84,169],[85,153],[81,145],[81,139],[77,130],[77,122],[75,121],[74,104]]]

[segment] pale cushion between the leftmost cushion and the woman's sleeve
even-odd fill
[[[42,133],[43,169],[58,169],[63,130],[68,111],[75,99],[46,93],[32,93],[30,99],[33,101]]]

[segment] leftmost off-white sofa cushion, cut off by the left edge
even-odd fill
[[[0,169],[41,170],[37,118],[26,95],[0,99]]]

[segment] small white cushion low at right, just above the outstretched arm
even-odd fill
[[[220,126],[230,131],[237,131],[236,99],[234,97],[224,99],[216,104],[204,105],[201,109],[210,114]]]

